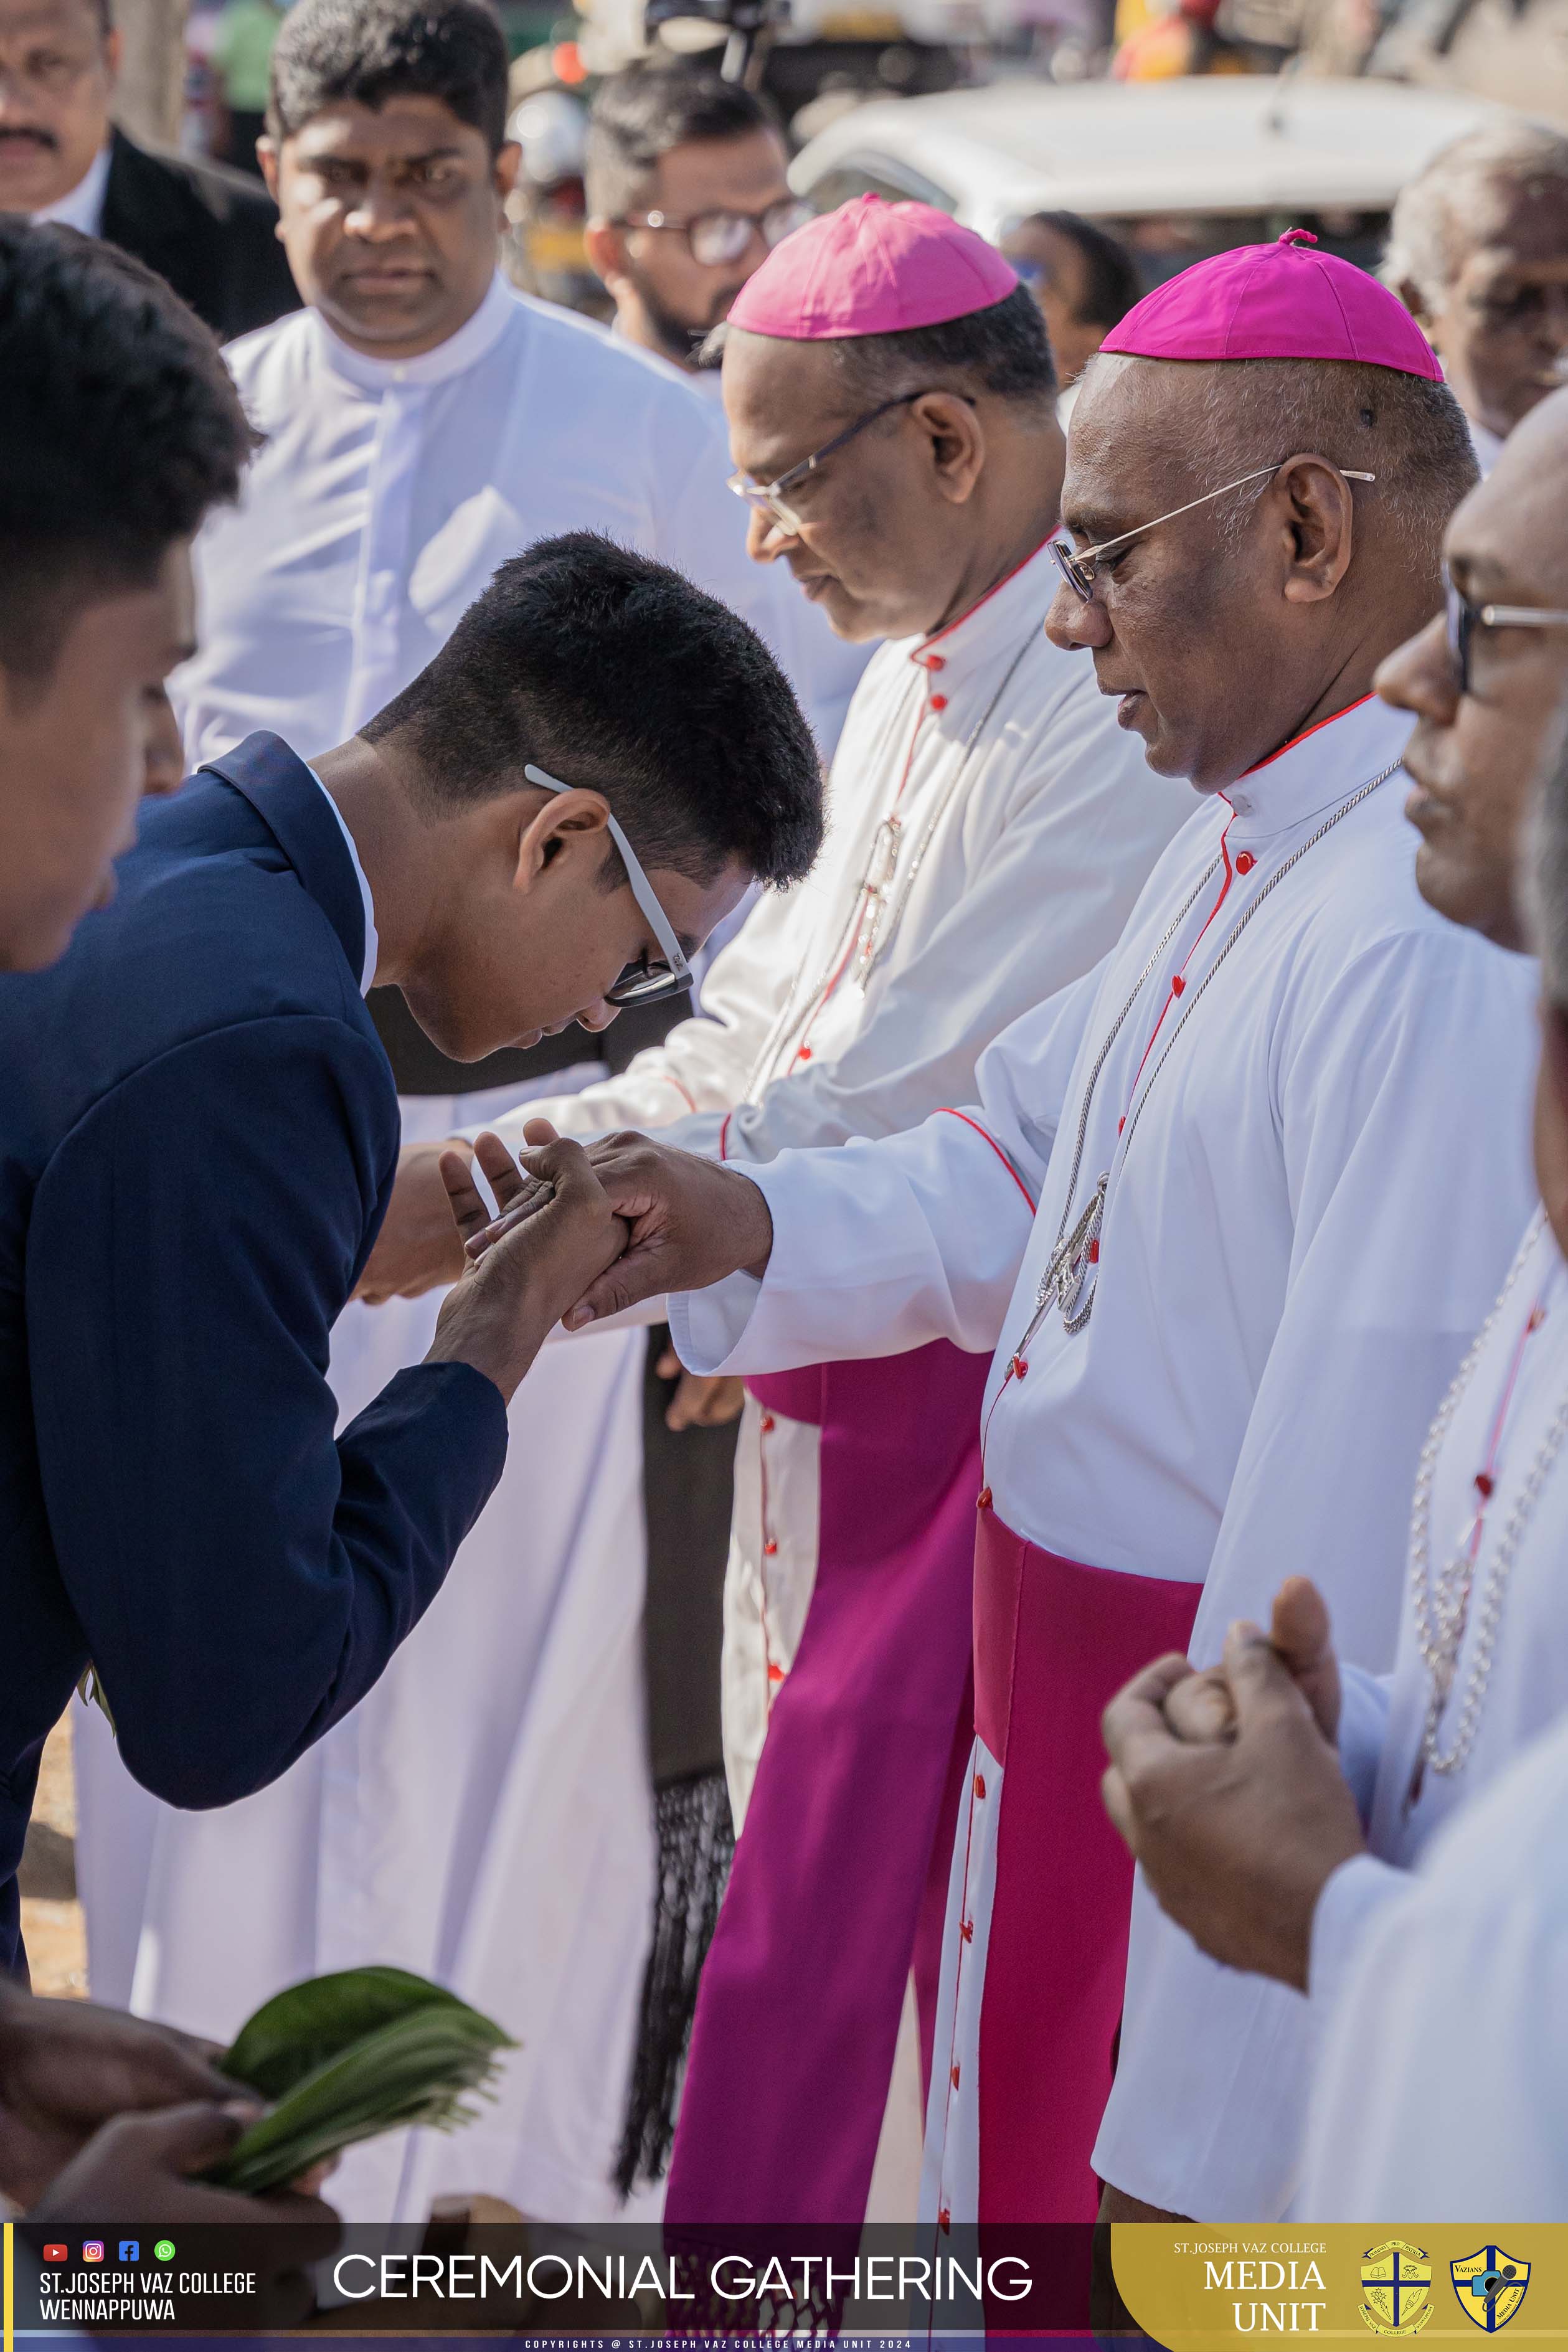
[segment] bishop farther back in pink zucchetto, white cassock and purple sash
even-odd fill
[[[1190,793],[1150,771],[1088,666],[1044,633],[1053,393],[1027,289],[926,205],[846,205],[743,289],[724,402],[752,550],[846,637],[891,642],[851,706],[809,884],[719,955],[705,1018],[616,1080],[496,1122],[510,1143],[541,1112],[576,1136],[663,1127],[738,1164],[898,1134],[966,1098],[997,1030],[1114,943]],[[404,1155],[378,1244],[393,1287],[451,1272],[435,1160]],[[891,2112],[889,2074],[933,1863],[940,1926],[954,1738],[969,1748],[985,1364],[938,1341],[748,1399],[724,1651],[748,1828],[703,1973],[672,2220],[717,2194],[731,2220],[858,2220],[884,2114],[875,2211],[914,2211],[914,2013]],[[505,1994],[531,1900],[520,1867],[465,1978],[480,2006]],[[823,1940],[827,1976],[809,1962]]]

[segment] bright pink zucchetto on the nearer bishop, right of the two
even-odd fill
[[[1135,360],[1356,360],[1441,383],[1436,353],[1406,306],[1314,245],[1309,230],[1286,228],[1276,245],[1237,245],[1197,261],[1133,303],[1100,350]]]

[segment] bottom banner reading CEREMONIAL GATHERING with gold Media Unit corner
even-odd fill
[[[491,2209],[494,2211],[494,2209]],[[505,2211],[505,2209],[501,2209]],[[5,2227],[5,2352],[49,2338],[294,2333],[945,2347],[1260,2336],[1568,2345],[1568,2225],[564,2227],[440,2211],[423,2227]]]

